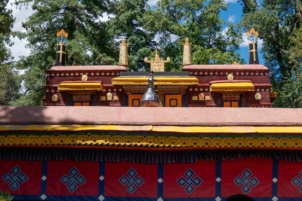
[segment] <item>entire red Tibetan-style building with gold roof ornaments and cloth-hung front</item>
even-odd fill
[[[261,201],[302,199],[302,109],[271,108],[270,70],[251,29],[249,64],[180,72],[157,53],[150,72],[66,66],[57,33],[44,106],[0,106],[0,191],[14,200]],[[74,107],[90,106],[90,107]]]

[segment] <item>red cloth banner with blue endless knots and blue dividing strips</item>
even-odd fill
[[[0,190],[14,200],[223,201],[302,200],[302,162],[235,161],[143,164],[130,162],[0,161]]]

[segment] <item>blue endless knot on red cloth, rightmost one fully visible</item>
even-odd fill
[[[239,175],[234,179],[234,182],[237,184],[237,186],[243,184],[240,189],[244,194],[247,194],[252,190],[250,185],[252,187],[255,187],[258,183],[260,183],[260,181],[256,177],[250,178],[252,177],[252,175],[253,173],[248,168],[246,168],[246,170],[242,172],[243,178],[241,177],[241,175]]]

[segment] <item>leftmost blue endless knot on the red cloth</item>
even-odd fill
[[[8,186],[11,188],[11,190],[17,190],[20,187],[20,184],[18,183],[18,181],[20,181],[21,183],[24,183],[25,181],[28,180],[28,177],[26,176],[25,173],[22,173],[21,168],[19,168],[18,165],[16,165],[15,167],[13,167],[11,169],[12,174],[10,174],[9,172],[5,173],[2,176],[2,179],[8,183],[10,181],[12,181]]]

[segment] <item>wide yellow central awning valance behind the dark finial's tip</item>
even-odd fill
[[[148,85],[149,77],[113,78],[112,85]],[[155,85],[198,85],[195,77],[154,77]]]

